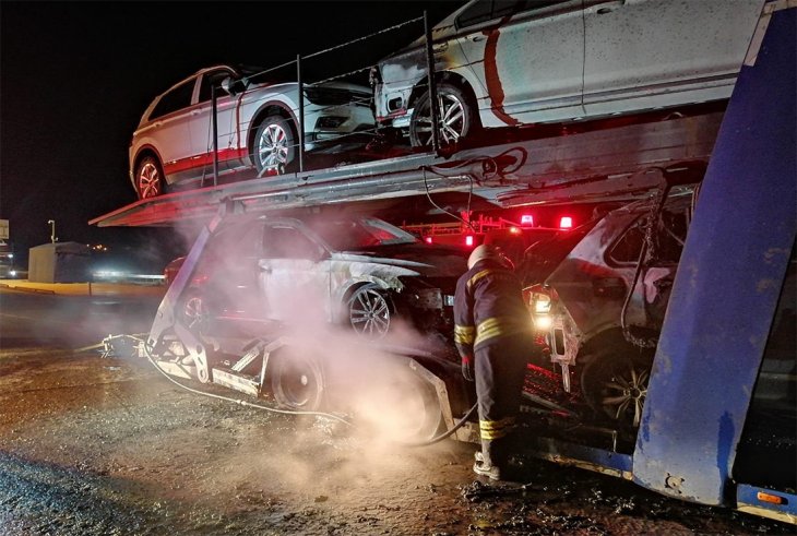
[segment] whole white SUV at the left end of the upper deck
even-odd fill
[[[219,87],[218,170],[225,180],[281,172],[298,155],[297,83],[255,84],[217,65],[192,74],[146,108],[130,144],[130,179],[140,199],[173,184],[213,179],[211,86]],[[224,86],[225,88],[221,88]],[[372,94],[347,83],[305,86],[305,142],[373,128]]]

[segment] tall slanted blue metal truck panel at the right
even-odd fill
[[[728,504],[731,468],[795,240],[797,9],[772,14],[719,129],[680,260],[634,480]]]

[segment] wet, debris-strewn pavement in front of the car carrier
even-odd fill
[[[3,327],[12,311],[0,298]],[[116,321],[124,314],[138,321],[134,307]],[[75,333],[90,336],[91,324]],[[0,344],[2,535],[796,533],[533,458],[519,478],[526,486],[490,486],[471,472],[471,444],[401,448],[322,417],[201,396],[145,359],[72,343],[86,341]]]

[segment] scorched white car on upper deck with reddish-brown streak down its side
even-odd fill
[[[432,28],[441,141],[730,96],[763,0],[473,0]],[[426,41],[371,72],[377,121],[431,139]]]

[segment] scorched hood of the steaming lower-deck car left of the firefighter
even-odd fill
[[[431,248],[426,245],[380,246],[364,251],[332,253],[336,261],[367,262],[395,266],[424,277],[459,277],[467,271],[465,255],[453,249]]]

